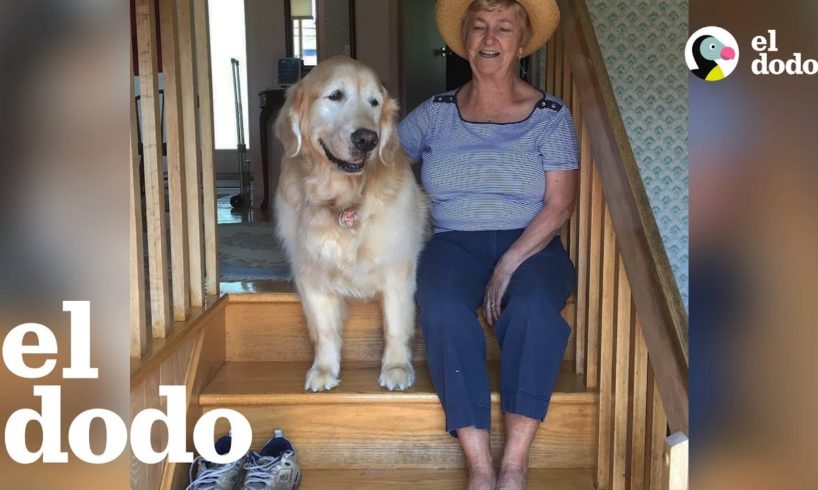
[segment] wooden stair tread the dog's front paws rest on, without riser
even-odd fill
[[[415,365],[415,385],[408,391],[390,392],[378,385],[380,363],[348,361],[341,366],[341,384],[329,392],[304,391],[310,361],[228,362],[199,396],[201,405],[268,405],[389,402],[438,402],[424,363]],[[489,361],[492,401],[499,401],[499,362]],[[557,378],[552,402],[594,403],[596,394],[582,384],[568,363]]]

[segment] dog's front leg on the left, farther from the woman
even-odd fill
[[[346,302],[315,290],[300,292],[315,349],[315,359],[307,371],[304,389],[331,390],[340,383],[338,374],[341,371],[341,334],[346,319]]]

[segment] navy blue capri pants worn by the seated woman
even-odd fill
[[[486,338],[477,319],[494,266],[523,230],[436,233],[421,254],[416,298],[446,430],[490,430]],[[545,419],[570,327],[560,312],[575,272],[559,237],[520,264],[494,324],[504,413]]]

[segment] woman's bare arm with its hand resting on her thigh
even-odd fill
[[[483,309],[489,325],[494,325],[500,316],[500,301],[517,267],[544,249],[574,212],[577,175],[577,170],[545,172],[546,191],[542,211],[537,213],[520,238],[497,262],[494,273],[486,286]]]

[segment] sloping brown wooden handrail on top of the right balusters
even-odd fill
[[[565,55],[672,432],[688,432],[687,312],[584,0],[557,0]]]

